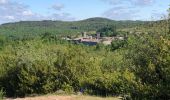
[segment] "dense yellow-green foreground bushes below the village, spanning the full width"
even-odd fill
[[[170,42],[166,36],[136,34],[110,47],[74,45],[50,33],[5,41],[0,51],[0,86],[12,97],[63,90],[167,99]]]

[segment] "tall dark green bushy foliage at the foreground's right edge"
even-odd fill
[[[129,69],[138,79],[135,98],[169,99],[170,45],[158,34],[129,38],[126,58]]]

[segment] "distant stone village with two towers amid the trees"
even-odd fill
[[[104,45],[111,45],[113,40],[124,40],[124,37],[115,36],[115,37],[101,37],[100,33],[96,33],[94,36],[88,35],[87,32],[82,32],[81,36],[78,38],[68,38],[64,37],[64,40],[71,41],[73,43],[82,43],[85,45],[93,46],[99,43]]]

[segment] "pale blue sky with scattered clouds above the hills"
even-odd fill
[[[159,20],[170,0],[0,0],[0,24],[17,21]]]

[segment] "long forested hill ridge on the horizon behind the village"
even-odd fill
[[[89,18],[81,21],[20,21],[0,25],[0,34],[6,35],[29,35],[42,34],[75,34],[82,31],[96,31],[105,26],[116,26],[118,29],[132,28],[143,25],[144,21],[114,21],[106,18]]]

